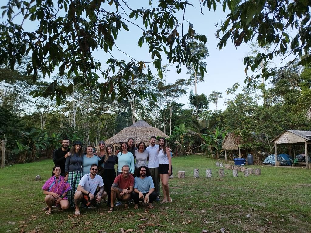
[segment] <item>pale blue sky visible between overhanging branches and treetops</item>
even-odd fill
[[[141,8],[149,7],[149,1],[130,1],[128,4],[133,8]],[[155,2],[155,1],[154,1]],[[224,102],[226,98],[232,98],[233,96],[226,94],[226,89],[231,88],[232,85],[236,82],[240,84],[240,87],[245,86],[244,80],[246,74],[244,72],[245,66],[243,65],[243,59],[246,54],[250,51],[249,44],[242,43],[239,47],[235,47],[231,40],[227,41],[227,45],[219,50],[217,48],[218,40],[215,37],[215,32],[219,28],[216,28],[216,23],[221,24],[221,21],[224,21],[225,14],[222,11],[222,7],[218,4],[216,11],[209,11],[208,8],[202,5],[202,12],[200,10],[200,1],[189,1],[194,6],[187,6],[186,13],[185,13],[185,23],[183,31],[184,33],[188,31],[189,23],[193,24],[193,29],[196,33],[204,34],[207,37],[206,47],[209,52],[209,57],[205,59],[207,63],[207,75],[204,76],[204,82],[199,83],[197,85],[197,94],[205,94],[208,96],[211,94],[212,91],[222,92],[223,98],[219,100],[218,109],[225,109]],[[146,5],[144,5],[146,4]],[[114,8],[111,7],[111,10]],[[110,10],[110,9],[109,9]],[[122,10],[119,8],[122,12]],[[129,12],[129,11],[128,11]],[[124,16],[124,15],[123,15]],[[126,16],[125,16],[126,17]],[[182,12],[177,14],[179,21],[182,20]],[[16,21],[22,21],[20,18],[16,18]],[[133,21],[133,19],[132,19]],[[131,55],[134,59],[140,61],[144,60],[146,62],[151,62],[151,56],[148,54],[149,48],[146,45],[143,45],[142,48],[138,47],[138,39],[142,36],[141,30],[137,30],[137,28],[131,25],[129,22],[126,22],[129,28],[128,31],[121,31],[118,35],[118,39],[116,44],[118,48],[123,52]],[[135,22],[137,23],[137,22]],[[24,28],[31,29],[35,26],[36,22],[29,22],[26,21],[24,23]],[[178,29],[179,33],[181,34],[181,29]],[[118,50],[114,50],[112,52],[113,56],[118,60],[124,59],[129,61],[128,56],[124,53],[120,53]],[[93,55],[97,58],[102,64],[102,70],[105,70],[105,63],[109,55],[105,54],[103,51],[93,51]],[[162,65],[165,65],[167,62],[165,54],[162,56]],[[156,74],[156,70],[152,69],[153,74]],[[167,73],[166,80],[167,82],[174,82],[177,79],[188,79],[189,75],[186,74],[187,69],[184,66],[182,68],[182,72],[180,74],[176,73],[175,66],[170,68],[170,71]],[[53,73],[55,75],[56,72]],[[100,74],[100,73],[99,73]],[[249,74],[248,74],[249,75]],[[102,78],[101,81],[104,81]],[[191,86],[188,86],[188,94],[189,90],[194,89]],[[185,104],[185,108],[188,108],[188,95],[183,96],[179,99],[179,103]],[[209,105],[209,110],[214,110],[216,106],[212,103]]]

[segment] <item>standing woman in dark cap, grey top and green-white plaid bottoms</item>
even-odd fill
[[[73,144],[70,150],[70,156],[66,158],[65,171],[66,177],[65,180],[68,180],[68,183],[71,186],[71,190],[68,191],[67,197],[69,201],[70,208],[74,208],[74,194],[78,188],[79,182],[82,178],[82,158],[83,158],[83,149],[81,141],[77,141]]]

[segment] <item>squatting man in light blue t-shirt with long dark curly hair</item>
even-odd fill
[[[134,178],[134,192],[131,193],[135,203],[134,209],[138,209],[139,201],[149,204],[149,208],[153,208],[152,203],[156,200],[155,186],[150,176],[150,171],[146,166],[140,166]]]

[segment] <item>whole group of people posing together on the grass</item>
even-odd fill
[[[138,148],[134,144],[134,139],[129,138],[121,144],[121,151],[114,153],[111,145],[100,141],[95,152],[92,146],[87,146],[84,152],[81,141],[69,148],[70,140],[64,138],[62,147],[53,154],[52,177],[42,187],[46,214],[58,206],[75,208],[75,215],[80,215],[80,203],[86,208],[96,208],[102,200],[106,201],[106,196],[108,212],[122,203],[125,209],[129,208],[131,200],[135,209],[140,201],[153,208],[153,202],[160,201],[160,180],[161,203],[172,202],[168,184],[172,173],[171,149],[166,139],[160,138],[156,145],[156,137],[151,136],[148,147],[144,142],[138,143]]]

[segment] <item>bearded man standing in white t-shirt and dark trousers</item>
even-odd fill
[[[155,185],[155,193],[157,195],[156,201],[160,201],[160,175],[159,175],[159,145],[156,145],[156,136],[150,137],[150,146],[146,148],[146,151],[149,152],[149,161],[148,168],[150,171],[150,176],[152,177],[153,184]],[[171,152],[169,147],[166,148],[166,151]]]

